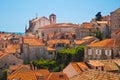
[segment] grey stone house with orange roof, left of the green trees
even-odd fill
[[[45,46],[39,39],[23,38],[21,57],[24,61],[40,58],[51,59],[54,56],[55,50]]]

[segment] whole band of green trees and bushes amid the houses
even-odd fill
[[[65,48],[57,51],[57,55],[53,60],[33,60],[33,65],[38,69],[48,69],[49,71],[61,71],[69,62],[83,61],[84,46],[76,48]]]

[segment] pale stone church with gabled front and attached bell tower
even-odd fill
[[[35,18],[29,21],[29,28],[26,29],[27,32],[32,32],[33,34],[38,33],[38,28],[41,28],[42,26],[49,25],[49,24],[55,24],[56,23],[56,15],[51,14],[49,18],[43,16],[41,18]]]

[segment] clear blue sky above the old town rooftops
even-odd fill
[[[0,0],[0,31],[24,32],[29,20],[57,15],[57,22],[89,22],[97,12],[109,15],[120,0]]]

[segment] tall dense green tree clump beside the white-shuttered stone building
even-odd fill
[[[65,66],[69,62],[73,61],[83,61],[84,58],[84,46],[77,46],[72,49],[62,49],[58,50],[56,61],[58,64],[64,64]]]

